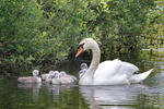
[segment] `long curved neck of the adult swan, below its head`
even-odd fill
[[[93,44],[93,46],[91,46],[91,50],[92,50],[92,61],[91,61],[89,70],[81,77],[80,85],[92,85],[93,84],[93,75],[99,64],[101,50],[99,50],[98,45]]]

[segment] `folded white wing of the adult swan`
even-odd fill
[[[114,78],[114,76],[130,77],[137,71],[139,71],[139,69],[129,62],[124,62],[118,59],[113,61],[104,61],[99,63],[97,70],[95,71],[94,80],[105,81]]]

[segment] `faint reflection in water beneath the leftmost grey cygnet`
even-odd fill
[[[25,89],[32,89],[33,90],[33,99],[37,100],[39,95],[39,89],[42,87],[42,83],[38,84],[17,84],[17,87],[25,88]]]

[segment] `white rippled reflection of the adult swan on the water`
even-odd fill
[[[133,109],[141,89],[148,88],[144,85],[125,86],[80,86],[80,90],[90,102],[91,109]]]

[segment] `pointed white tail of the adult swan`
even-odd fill
[[[133,74],[130,77],[130,83],[141,83],[142,81],[144,81],[151,74],[152,71],[153,71],[153,69],[151,69],[147,72],[143,72],[141,74]]]

